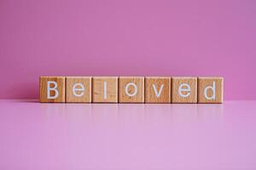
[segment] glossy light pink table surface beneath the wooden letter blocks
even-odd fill
[[[0,169],[256,169],[256,101],[0,100]]]

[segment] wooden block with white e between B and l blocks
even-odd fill
[[[66,87],[66,102],[91,102],[91,77],[67,77]]]

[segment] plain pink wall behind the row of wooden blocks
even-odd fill
[[[256,1],[1,0],[0,98],[39,75],[223,76],[256,99]]]

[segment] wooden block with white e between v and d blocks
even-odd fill
[[[172,103],[197,103],[197,77],[172,77]]]

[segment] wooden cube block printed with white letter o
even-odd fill
[[[119,103],[144,103],[144,77],[119,77]]]

